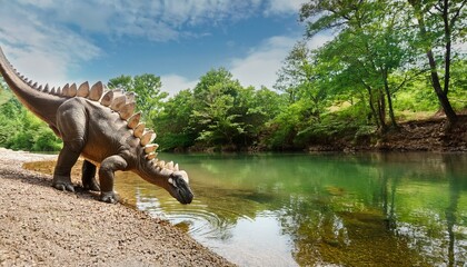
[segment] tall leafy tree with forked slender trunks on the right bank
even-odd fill
[[[369,108],[378,128],[386,130],[386,115],[391,126],[397,127],[393,107],[393,95],[409,79],[399,83],[391,78],[401,70],[414,67],[416,55],[410,47],[406,26],[409,18],[404,4],[398,1],[311,1],[304,4],[300,12],[302,21],[321,14],[316,21],[307,21],[309,37],[318,31],[337,28],[339,33],[334,41],[319,52],[318,61],[332,58],[334,67],[326,75],[329,79],[347,77],[367,91]],[[325,75],[325,73],[324,73]],[[351,86],[351,85],[350,85]]]

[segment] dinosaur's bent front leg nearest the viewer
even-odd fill
[[[115,204],[118,201],[117,195],[113,191],[113,178],[116,170],[125,170],[127,161],[118,155],[111,156],[102,160],[99,168],[100,182],[100,198],[105,202]]]

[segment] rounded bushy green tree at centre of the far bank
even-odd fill
[[[200,146],[244,149],[258,144],[266,122],[285,105],[278,93],[244,88],[225,68],[199,78],[193,89],[189,128]]]

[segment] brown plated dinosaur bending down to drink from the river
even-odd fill
[[[166,189],[180,204],[192,201],[187,172],[178,164],[157,158],[158,145],[152,144],[156,134],[140,121],[141,112],[135,112],[136,93],[109,90],[101,81],[93,86],[86,81],[79,87],[76,83],[62,88],[39,86],[21,76],[1,48],[0,72],[22,105],[63,141],[53,170],[56,189],[74,191],[70,172],[81,156],[85,158],[82,187],[100,191],[101,201],[118,201],[113,191],[117,170],[133,171]]]

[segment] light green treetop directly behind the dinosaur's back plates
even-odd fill
[[[148,122],[151,123],[153,118],[161,110],[161,102],[169,93],[160,90],[162,83],[160,77],[145,73],[141,76],[120,76],[110,79],[108,82],[110,89],[121,88],[126,91],[132,91],[138,95],[137,108],[148,117]]]

